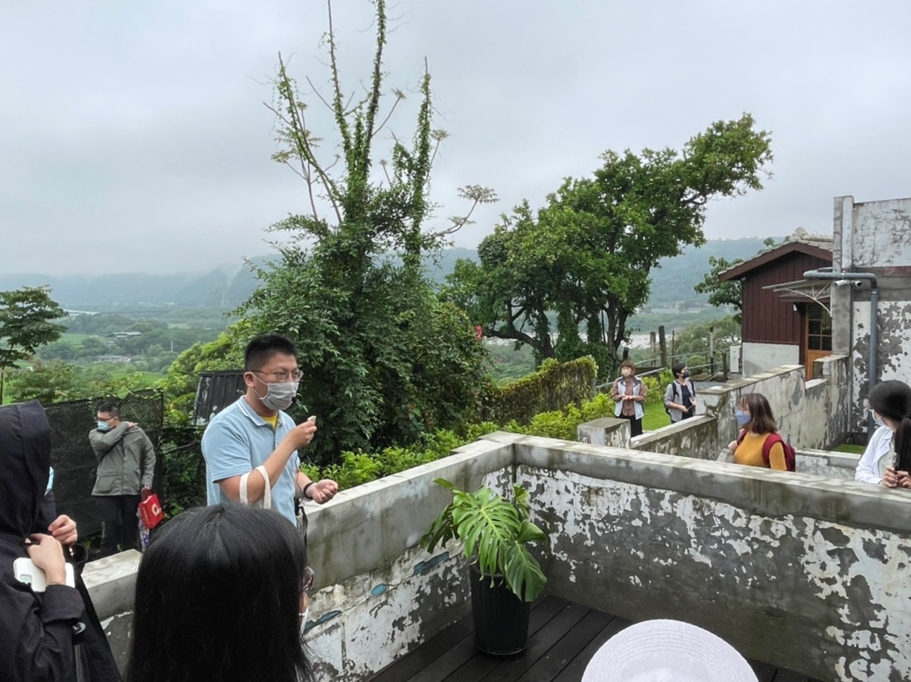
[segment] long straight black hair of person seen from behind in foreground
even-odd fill
[[[241,504],[169,521],[139,565],[128,682],[298,682],[307,549],[293,524]]]

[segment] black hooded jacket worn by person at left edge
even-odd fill
[[[50,451],[50,427],[39,402],[0,407],[0,678],[15,682],[74,682],[73,626],[90,625],[77,589],[47,585],[46,592],[35,593],[13,572],[15,559],[28,556],[26,537],[47,533],[39,504],[47,487]],[[87,661],[86,677],[118,679],[109,648],[107,659],[101,666]],[[107,673],[99,676],[99,669]]]

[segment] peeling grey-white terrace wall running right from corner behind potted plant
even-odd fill
[[[824,680],[911,677],[907,494],[546,441],[516,455],[551,538],[548,594],[681,618]]]

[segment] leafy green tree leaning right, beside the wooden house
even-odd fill
[[[486,335],[528,344],[538,361],[589,353],[610,372],[650,270],[702,244],[709,200],[761,189],[772,158],[749,114],[713,123],[679,152],[607,151],[592,178],[566,179],[537,213],[523,203],[504,216],[447,294]]]

